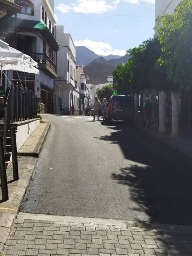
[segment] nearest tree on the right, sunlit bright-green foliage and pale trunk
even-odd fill
[[[160,65],[166,65],[172,81],[172,137],[179,133],[179,92],[189,88],[192,81],[192,0],[178,4],[173,15],[164,15],[158,21],[157,38],[162,47]]]

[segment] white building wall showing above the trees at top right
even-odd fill
[[[177,5],[183,0],[156,0],[155,1],[155,21],[165,14],[173,14]],[[156,27],[155,27],[156,28]]]

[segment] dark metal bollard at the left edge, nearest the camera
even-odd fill
[[[9,195],[8,195],[8,187],[7,187],[7,174],[6,174],[6,165],[5,165],[3,135],[0,135],[0,177],[1,177],[2,198],[4,201],[6,201],[6,200],[9,200]]]

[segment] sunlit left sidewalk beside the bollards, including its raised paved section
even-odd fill
[[[29,151],[30,148],[32,148],[32,150],[34,150],[34,148],[37,148],[39,153],[49,127],[50,125],[47,123],[39,124],[37,129],[24,143],[23,147],[26,147],[25,145],[28,145],[27,150]],[[9,236],[12,223],[18,213],[21,200],[25,194],[26,188],[28,187],[30,177],[32,175],[33,169],[35,168],[36,161],[37,158],[34,157],[18,156],[19,180],[17,181],[13,180],[12,164],[10,164],[10,166],[6,170],[9,200],[5,202],[2,200],[0,187],[0,252],[3,249]]]

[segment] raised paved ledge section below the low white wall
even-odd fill
[[[35,131],[28,137],[28,139],[25,141],[25,143],[22,145],[22,147],[19,150],[19,154],[22,152],[33,152],[36,148],[36,145],[42,136],[44,134],[44,130],[46,129],[47,123],[40,123]]]

